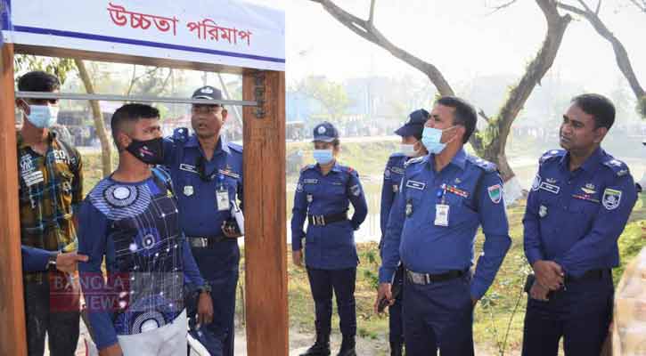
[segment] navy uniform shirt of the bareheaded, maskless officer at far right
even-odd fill
[[[546,152],[523,219],[527,261],[554,261],[574,277],[617,267],[617,239],[636,199],[626,164],[601,148],[574,172],[567,151]]]

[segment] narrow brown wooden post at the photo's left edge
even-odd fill
[[[18,158],[13,97],[13,45],[0,57],[0,355],[27,354],[22,291]]]

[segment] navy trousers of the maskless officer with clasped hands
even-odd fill
[[[527,300],[523,356],[556,356],[563,337],[567,356],[598,355],[612,318],[612,276],[566,283],[549,302]]]

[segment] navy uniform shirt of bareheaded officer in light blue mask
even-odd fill
[[[474,262],[478,226],[485,234],[470,293],[487,292],[511,246],[503,182],[494,164],[460,150],[435,171],[434,155],[410,159],[388,219],[380,282],[390,283],[401,260],[419,273],[466,271]],[[449,206],[448,226],[436,224],[436,205]]]

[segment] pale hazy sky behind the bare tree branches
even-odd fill
[[[423,77],[340,25],[319,4],[309,0],[248,1],[286,12],[288,82],[308,74],[335,80],[371,75]],[[380,0],[375,23],[393,43],[435,64],[456,88],[478,76],[519,77],[540,48],[546,24],[536,2],[519,0],[491,14],[491,6],[502,2]],[[594,6],[596,1],[588,3]],[[367,18],[370,1],[337,0],[336,4]],[[605,1],[601,18],[624,43],[637,77],[646,85],[646,13],[632,6],[629,0]],[[583,19],[570,23],[552,67],[555,72],[599,93],[609,93],[621,76],[609,43]]]

